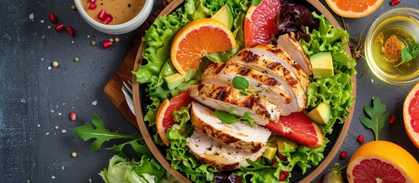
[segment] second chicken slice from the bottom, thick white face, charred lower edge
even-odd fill
[[[252,128],[242,121],[228,125],[214,111],[192,102],[191,122],[195,130],[248,153],[256,153],[266,145],[271,131],[261,126]]]

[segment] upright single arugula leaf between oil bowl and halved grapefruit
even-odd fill
[[[386,107],[387,106],[382,104],[378,97],[375,97],[373,107],[368,105],[364,106],[365,112],[371,117],[371,119],[367,117],[360,117],[361,123],[374,131],[375,140],[378,140],[380,130],[384,127],[385,122],[390,116],[390,114],[385,112]]]

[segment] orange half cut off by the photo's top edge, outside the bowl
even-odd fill
[[[347,18],[365,17],[380,7],[382,2],[383,0],[326,0],[336,14]]]

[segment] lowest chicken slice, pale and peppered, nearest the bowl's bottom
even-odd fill
[[[249,166],[246,159],[258,161],[266,148],[262,147],[257,153],[248,153],[196,130],[186,140],[188,141],[188,150],[199,162],[213,165],[223,171]]]

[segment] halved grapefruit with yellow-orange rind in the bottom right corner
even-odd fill
[[[402,147],[387,141],[362,145],[352,155],[346,176],[349,182],[416,182],[419,164]]]

